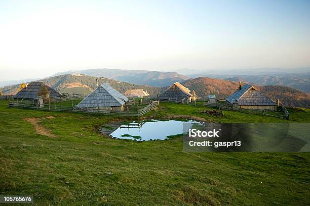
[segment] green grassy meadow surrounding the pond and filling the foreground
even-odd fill
[[[101,115],[8,109],[0,100],[0,192],[33,195],[34,205],[309,205],[310,154],[184,152],[179,137],[165,141],[111,139]],[[181,114],[215,122],[310,122],[310,110],[291,119],[165,103],[148,118]],[[25,117],[55,138],[38,135]],[[156,134],[154,134],[154,137]],[[66,183],[67,182],[67,183]]]

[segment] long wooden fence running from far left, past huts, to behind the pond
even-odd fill
[[[38,107],[34,104],[34,101],[10,101],[9,108],[19,109],[31,109],[31,110],[43,110],[43,111],[55,111],[55,112],[75,112],[75,113],[92,113],[92,114],[103,114],[110,116],[119,117],[140,117],[159,105],[159,101],[151,101],[149,105],[144,106],[138,110],[127,110],[127,111],[107,111],[100,109],[82,109],[76,107],[57,106],[51,104],[44,104],[42,107]]]

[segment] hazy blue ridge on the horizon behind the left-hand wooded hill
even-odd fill
[[[87,69],[56,73],[53,76],[63,74],[86,74],[94,77],[106,77],[118,81],[133,84],[147,84],[150,86],[169,86],[176,81],[185,81],[188,77],[177,72],[159,72],[147,70],[122,70],[122,69]]]

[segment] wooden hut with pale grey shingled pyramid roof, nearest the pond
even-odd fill
[[[112,88],[108,83],[103,83],[86,96],[76,107],[85,110],[123,111],[126,104],[128,104],[126,96]]]

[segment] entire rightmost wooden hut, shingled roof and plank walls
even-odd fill
[[[244,109],[272,110],[277,109],[277,104],[264,94],[257,91],[252,85],[242,85],[239,89],[226,98],[229,105]]]

